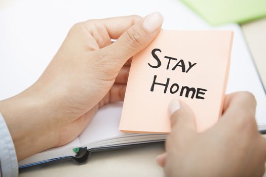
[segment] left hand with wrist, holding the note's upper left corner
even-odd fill
[[[158,35],[162,22],[154,13],[75,24],[42,76],[0,102],[18,160],[70,142],[98,108],[122,101],[128,59]]]

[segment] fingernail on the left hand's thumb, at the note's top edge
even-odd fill
[[[145,17],[142,23],[143,28],[150,33],[153,33],[162,26],[164,18],[160,12],[154,12]]]

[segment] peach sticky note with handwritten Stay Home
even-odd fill
[[[229,74],[232,31],[168,31],[133,57],[119,129],[171,131],[168,103],[188,104],[197,130],[221,115]]]

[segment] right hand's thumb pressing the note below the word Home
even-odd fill
[[[169,103],[168,109],[171,115],[170,121],[173,136],[196,134],[195,116],[187,104],[174,99]]]

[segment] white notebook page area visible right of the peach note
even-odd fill
[[[231,67],[226,93],[238,91],[251,92],[257,101],[257,124],[266,124],[265,91],[240,26],[227,25],[218,29],[232,29],[234,31]],[[259,128],[261,129],[262,127]]]

